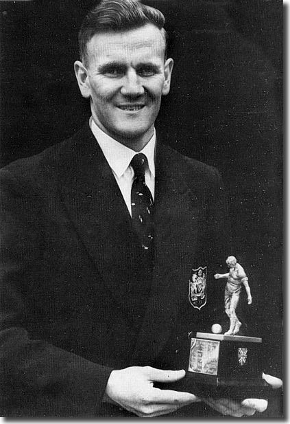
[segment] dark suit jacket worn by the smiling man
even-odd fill
[[[102,401],[111,370],[186,368],[188,332],[223,309],[213,274],[230,252],[217,170],[158,144],[152,281],[88,126],[0,174],[1,416],[127,414]],[[198,310],[189,278],[200,266]]]

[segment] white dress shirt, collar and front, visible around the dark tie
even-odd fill
[[[132,216],[131,210],[131,188],[134,180],[134,170],[130,166],[130,162],[134,155],[137,152],[131,148],[124,146],[123,144],[117,142],[112,137],[104,133],[97,124],[95,124],[93,118],[90,118],[90,129],[95,135],[97,142],[108,161],[112,173],[118,183],[118,186],[121,190],[125,203],[127,205],[128,211]],[[145,181],[147,187],[152,193],[154,200],[154,188],[155,188],[155,146],[156,146],[156,132],[154,129],[154,134],[146,146],[138,153],[143,153],[148,160],[148,168],[145,170]]]

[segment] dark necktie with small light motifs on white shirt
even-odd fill
[[[143,153],[135,155],[130,164],[134,170],[134,181],[131,188],[132,223],[144,250],[148,250],[152,246],[154,236],[154,203],[145,182],[147,164],[147,157]]]

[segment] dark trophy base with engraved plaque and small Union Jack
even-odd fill
[[[201,397],[267,399],[271,386],[262,378],[262,339],[191,333],[184,390]]]

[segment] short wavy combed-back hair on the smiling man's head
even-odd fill
[[[152,23],[161,31],[167,56],[165,17],[160,10],[139,0],[102,0],[84,18],[79,32],[80,58],[88,65],[88,42],[100,32],[124,32]]]

